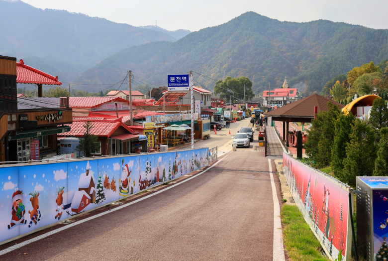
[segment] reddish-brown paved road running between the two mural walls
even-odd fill
[[[231,133],[244,124],[232,125]],[[229,139],[201,142],[213,146]],[[0,260],[283,261],[280,181],[271,170],[275,164],[264,151],[239,148],[176,184],[75,219],[84,223],[2,245]]]

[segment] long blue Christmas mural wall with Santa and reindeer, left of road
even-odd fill
[[[208,165],[208,148],[0,168],[0,242]]]

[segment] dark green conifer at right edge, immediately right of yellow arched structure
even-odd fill
[[[387,127],[388,124],[388,108],[387,102],[382,98],[376,98],[373,101],[369,123],[372,128],[375,130],[376,142],[380,141],[380,130],[384,127]]]

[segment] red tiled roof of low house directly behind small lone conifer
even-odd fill
[[[132,132],[130,128],[128,128],[125,124],[122,123],[122,119],[114,119],[114,120],[92,120],[93,118],[85,118],[85,119],[73,119],[73,124],[68,126],[71,127],[71,130],[68,132],[58,133],[58,136],[83,136],[85,133],[84,125],[86,122],[91,121],[93,123],[93,128],[91,133],[97,136],[109,137],[118,127],[122,126],[129,132]]]

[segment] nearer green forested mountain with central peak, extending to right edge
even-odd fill
[[[148,53],[147,46],[151,45],[152,53]],[[281,86],[285,77],[290,85],[306,83],[307,93],[320,93],[336,75],[346,74],[362,63],[379,63],[387,58],[388,30],[328,20],[281,22],[247,12],[227,23],[192,32],[161,49],[156,45],[163,44],[122,50],[81,74],[76,81],[112,83],[132,70],[141,79],[158,85],[166,81],[167,74],[193,70],[216,80],[247,76],[253,81],[256,93],[267,89],[269,83],[272,88]],[[135,56],[142,59],[134,63]],[[214,82],[204,79],[197,78],[212,89]]]

